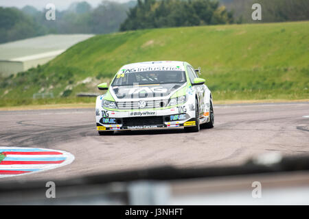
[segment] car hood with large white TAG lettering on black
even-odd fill
[[[179,90],[184,83],[160,83],[140,86],[111,86],[118,99],[165,97]]]

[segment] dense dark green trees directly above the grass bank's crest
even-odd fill
[[[138,0],[121,31],[233,23],[233,13],[213,0]]]

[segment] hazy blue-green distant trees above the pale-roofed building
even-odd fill
[[[108,34],[119,31],[126,12],[136,1],[102,1],[96,8],[86,1],[72,3],[67,10],[56,10],[56,20],[47,21],[47,10],[31,5],[24,8],[0,7],[0,43],[47,34]]]

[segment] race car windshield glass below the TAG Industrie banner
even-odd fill
[[[112,86],[132,86],[133,84],[184,83],[185,72],[181,70],[141,71],[118,73]]]

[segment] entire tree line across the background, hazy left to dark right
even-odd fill
[[[251,5],[262,5],[262,21],[252,21]],[[132,0],[102,1],[91,8],[86,1],[56,11],[47,21],[46,10],[28,5],[0,7],[0,43],[46,34],[108,34],[135,29],[309,20],[308,0]]]

